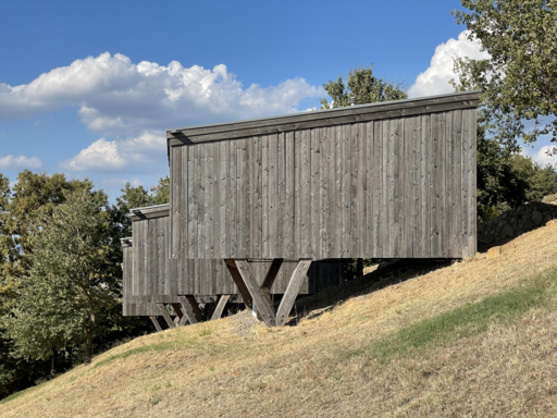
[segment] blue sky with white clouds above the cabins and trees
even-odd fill
[[[0,172],[89,177],[113,199],[168,174],[165,128],[304,111],[352,66],[450,93],[453,57],[482,57],[455,8],[0,0]]]

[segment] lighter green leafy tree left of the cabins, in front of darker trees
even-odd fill
[[[84,344],[88,364],[94,336],[111,327],[107,317],[117,310],[117,265],[110,259],[107,196],[78,189],[64,197],[38,222],[30,271],[2,324],[18,357],[45,359]]]

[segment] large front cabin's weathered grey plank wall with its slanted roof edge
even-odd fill
[[[478,100],[169,133],[171,257],[473,256]]]

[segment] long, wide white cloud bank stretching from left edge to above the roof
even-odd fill
[[[245,88],[226,65],[212,70],[177,61],[134,64],[106,52],[76,60],[21,86],[0,84],[0,118],[26,119],[69,106],[102,136],[134,137],[145,131],[288,113],[300,100],[323,94],[304,78]]]

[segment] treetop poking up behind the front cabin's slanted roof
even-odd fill
[[[386,82],[385,78],[373,76],[373,64],[369,69],[363,65],[351,69],[348,73],[348,83],[345,86],[342,75],[336,82],[329,81],[323,84],[331,102],[323,97],[320,100],[321,109],[343,108],[350,106],[350,97],[356,98],[356,104],[374,103],[387,100],[401,100],[408,98],[408,88],[403,82],[396,84]]]

